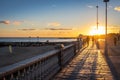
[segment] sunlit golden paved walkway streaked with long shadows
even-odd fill
[[[103,55],[90,45],[76,56],[54,80],[114,80]]]

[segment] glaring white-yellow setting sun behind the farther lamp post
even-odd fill
[[[101,35],[101,34],[105,34],[104,26],[98,26],[98,29],[96,26],[91,27],[90,35]]]

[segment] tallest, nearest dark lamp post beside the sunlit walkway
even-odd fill
[[[108,55],[108,48],[107,48],[107,2],[109,0],[103,0],[105,2],[105,55]]]

